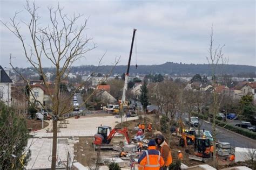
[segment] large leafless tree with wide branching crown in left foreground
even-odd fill
[[[43,83],[45,84],[47,91],[51,90],[50,85],[46,82],[43,65],[45,61],[48,60],[51,65],[55,67],[55,79],[52,87],[53,90],[52,93],[49,93],[49,97],[52,102],[51,110],[53,119],[51,169],[55,169],[57,152],[57,122],[64,119],[63,115],[73,109],[72,105],[68,104],[70,103],[73,95],[70,95],[68,98],[62,98],[60,95],[60,82],[68,77],[72,64],[85,57],[87,52],[95,49],[96,44],[93,43],[92,38],[87,37],[85,34],[87,19],[82,19],[82,15],[73,15],[69,17],[58,4],[56,9],[52,7],[48,8],[50,17],[49,25],[41,26],[41,16],[38,14],[38,7],[35,3],[27,1],[24,8],[29,15],[29,22],[24,22],[23,20],[18,21],[17,15],[19,12],[16,12],[14,17],[11,18],[8,23],[4,23],[2,20],[1,23],[9,31],[14,33],[21,42],[26,60],[28,60],[36,72],[42,76]],[[83,23],[78,25],[80,20],[82,20]],[[29,31],[28,37],[23,36],[21,24],[24,24],[26,29]],[[103,56],[99,58],[99,65]],[[118,60],[115,61],[113,65],[115,66],[117,63]],[[12,63],[10,63],[10,65],[15,69]],[[19,75],[28,83],[22,74]],[[82,86],[83,84],[76,88],[74,93],[76,93]],[[32,88],[29,83],[28,87],[34,100],[39,103],[41,107],[44,107],[44,104],[38,101],[32,93]]]

